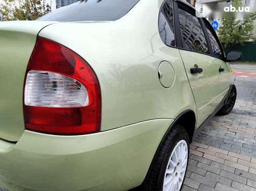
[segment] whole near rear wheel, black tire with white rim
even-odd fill
[[[188,158],[187,131],[181,125],[174,125],[158,149],[144,181],[144,190],[181,190],[188,167]]]

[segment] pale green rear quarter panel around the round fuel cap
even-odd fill
[[[39,33],[71,48],[94,69],[102,94],[101,131],[150,119],[174,119],[186,109],[196,113],[180,53],[160,39],[162,2],[141,0],[117,21],[56,23]],[[158,79],[163,60],[176,73],[171,88]]]

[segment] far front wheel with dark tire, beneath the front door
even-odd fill
[[[235,106],[236,98],[237,98],[237,89],[235,85],[232,85],[231,91],[227,98],[227,102],[217,112],[217,116],[225,116],[226,114],[230,113]]]

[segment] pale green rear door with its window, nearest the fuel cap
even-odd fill
[[[174,2],[177,3],[177,2]],[[218,63],[211,55],[205,28],[195,10],[177,3],[180,26],[180,54],[194,94],[197,107],[197,126],[200,126],[217,107]],[[179,27],[176,17],[176,29]],[[179,30],[179,29],[178,29]],[[202,69],[202,72],[200,71]]]

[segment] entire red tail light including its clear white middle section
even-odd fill
[[[38,37],[24,88],[24,119],[31,131],[77,135],[99,131],[101,95],[88,63],[72,50]]]

